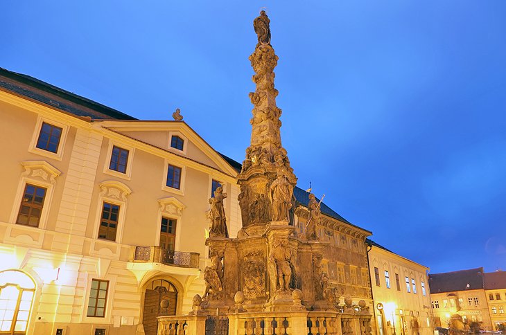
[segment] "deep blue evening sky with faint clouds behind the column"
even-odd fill
[[[0,66],[145,120],[179,107],[242,161],[262,7],[299,185],[433,273],[506,270],[503,0],[6,0]]]

